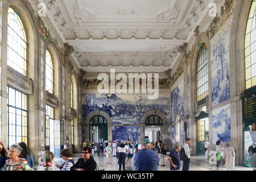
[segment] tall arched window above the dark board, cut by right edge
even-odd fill
[[[256,1],[251,4],[245,33],[246,89],[256,85]]]

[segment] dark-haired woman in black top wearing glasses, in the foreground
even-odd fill
[[[88,146],[82,148],[82,158],[80,158],[74,166],[70,168],[71,171],[95,171],[96,162],[93,159],[92,149]]]

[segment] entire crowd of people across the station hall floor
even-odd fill
[[[158,171],[158,166],[166,166],[167,150],[162,141],[151,142],[148,137],[145,137],[141,142],[119,141],[109,142],[104,140],[101,143],[98,140],[97,145],[94,142],[83,143],[81,158],[75,161],[72,159],[72,151],[69,143],[61,150],[61,158],[64,160],[62,164],[54,164],[54,154],[51,151],[44,151],[42,162],[38,166],[38,171],[53,171],[54,168],[59,168],[60,171],[95,171],[98,169],[97,163],[94,160],[94,150],[97,146],[97,155],[100,156],[100,151],[103,150],[103,155],[108,159],[108,164],[112,164],[113,157],[118,158],[119,171],[126,171],[126,166],[131,160],[133,171]],[[209,142],[205,141],[205,155],[207,155]],[[225,146],[225,147],[224,147]],[[250,164],[255,171],[256,147],[252,144],[249,148],[250,160],[246,163]],[[185,139],[185,143],[176,142],[173,150],[167,157],[170,163],[171,171],[181,170],[181,160],[183,161],[182,171],[189,171],[191,159],[191,139]],[[223,144],[220,140],[216,142],[216,169],[220,170],[221,161],[224,160],[226,170],[234,170],[236,152],[230,146],[229,142]],[[24,142],[15,143],[6,150],[3,143],[0,142],[0,169],[1,171],[34,171],[34,159],[27,144]]]

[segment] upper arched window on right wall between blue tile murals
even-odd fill
[[[208,96],[208,56],[205,44],[200,48],[196,62],[196,100]]]

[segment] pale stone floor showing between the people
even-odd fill
[[[80,158],[81,154],[74,154],[73,159],[75,160],[75,163]],[[97,156],[94,155],[94,160],[98,164],[98,167],[100,169],[105,169],[105,171],[118,171],[118,158],[112,157],[112,164],[108,164],[108,159],[106,159],[106,156]],[[64,160],[61,158],[55,158],[54,162],[55,164],[61,164]],[[161,164],[160,164],[161,165]],[[53,165],[54,166],[54,165]],[[34,166],[34,169],[38,167],[38,164]],[[181,162],[182,167],[182,162]],[[56,171],[58,171],[58,168],[55,168]],[[128,165],[126,166],[127,171],[132,171],[131,168],[131,160],[129,160]],[[158,171],[169,171],[170,170],[170,163],[168,162],[166,158],[166,166],[158,166]],[[235,171],[253,171],[253,168],[249,167],[242,167],[242,166],[235,166]],[[191,156],[191,164],[189,167],[189,171],[216,171],[216,167],[214,164],[209,164],[208,159],[205,158],[205,156]],[[220,171],[226,171],[225,166],[220,166]]]

